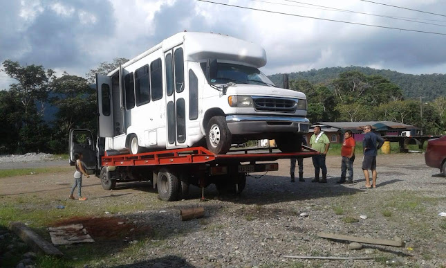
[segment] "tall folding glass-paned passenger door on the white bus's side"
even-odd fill
[[[167,144],[166,148],[186,146],[186,100],[183,44],[165,52]]]

